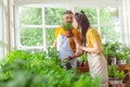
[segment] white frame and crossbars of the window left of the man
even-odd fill
[[[21,7],[21,5],[20,5]],[[46,40],[46,28],[56,28],[58,25],[46,25],[46,20],[44,20],[44,9],[48,7],[44,5],[27,5],[31,8],[41,8],[42,10],[42,24],[41,25],[21,25],[20,24],[20,16],[18,16],[18,8],[15,7],[15,42],[16,42],[16,48],[17,49],[23,49],[23,50],[37,50],[37,49],[42,49],[46,51],[48,49],[47,46],[47,40]],[[24,5],[26,7],[26,5]],[[50,8],[50,7],[49,7]],[[42,35],[43,35],[43,45],[42,46],[22,46],[21,44],[21,27],[26,28],[26,27],[40,27],[42,28]]]

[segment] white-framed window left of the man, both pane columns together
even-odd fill
[[[46,50],[53,44],[55,27],[62,23],[65,9],[20,7],[16,15],[17,48]]]

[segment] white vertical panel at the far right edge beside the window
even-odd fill
[[[122,1],[122,44],[130,46],[130,0]]]

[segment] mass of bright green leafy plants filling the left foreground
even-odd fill
[[[98,78],[62,69],[55,49],[48,51],[11,51],[0,63],[0,87],[100,87]]]

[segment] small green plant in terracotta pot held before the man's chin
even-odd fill
[[[65,30],[66,37],[72,37],[73,36],[73,26],[72,23],[63,23],[62,24],[63,29]]]

